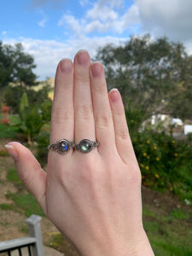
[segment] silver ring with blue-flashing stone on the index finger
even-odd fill
[[[73,142],[69,142],[67,139],[61,139],[57,141],[56,143],[50,144],[48,146],[48,149],[55,150],[56,152],[60,154],[67,154],[68,151],[74,147]]]

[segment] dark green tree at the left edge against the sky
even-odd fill
[[[21,86],[36,85],[37,76],[33,73],[36,67],[32,55],[26,54],[22,44],[3,44],[0,41],[0,88],[10,82]]]

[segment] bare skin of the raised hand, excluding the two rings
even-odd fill
[[[100,144],[88,154],[49,150],[47,172],[20,143],[6,148],[18,176],[47,217],[84,256],[154,255],[143,230],[141,172],[118,90],[81,50],[55,74],[50,143],[61,138]]]

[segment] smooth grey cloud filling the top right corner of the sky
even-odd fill
[[[143,32],[172,40],[191,40],[191,0],[135,0]]]

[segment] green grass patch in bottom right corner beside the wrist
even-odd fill
[[[192,213],[173,209],[169,214],[157,215],[143,209],[144,229],[156,256],[192,255]]]

